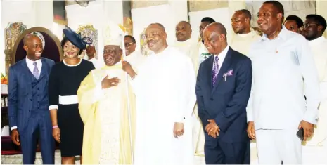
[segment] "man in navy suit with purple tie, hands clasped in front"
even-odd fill
[[[196,82],[198,115],[205,129],[205,162],[246,164],[245,152],[250,153],[246,106],[252,84],[251,60],[229,47],[221,23],[205,27],[203,39],[213,54],[201,63]]]

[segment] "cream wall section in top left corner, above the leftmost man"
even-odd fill
[[[53,27],[52,1],[1,1],[0,72],[5,73],[4,29],[8,23],[23,22],[31,27]]]

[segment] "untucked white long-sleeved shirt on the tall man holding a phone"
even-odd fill
[[[249,58],[253,78],[247,113],[256,130],[295,129],[302,120],[316,124],[319,79],[304,37],[283,27],[275,39],[264,35],[252,44]]]

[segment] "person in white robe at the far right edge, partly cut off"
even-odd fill
[[[314,136],[307,145],[327,145],[327,40],[323,37],[326,20],[321,15],[307,15],[302,34],[309,41],[320,82],[321,103]]]

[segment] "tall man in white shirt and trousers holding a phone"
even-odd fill
[[[259,164],[302,164],[302,145],[313,134],[319,80],[306,39],[282,26],[283,5],[266,1],[257,23],[264,36],[252,44],[248,136],[257,141]],[[307,102],[304,100],[304,93]]]

